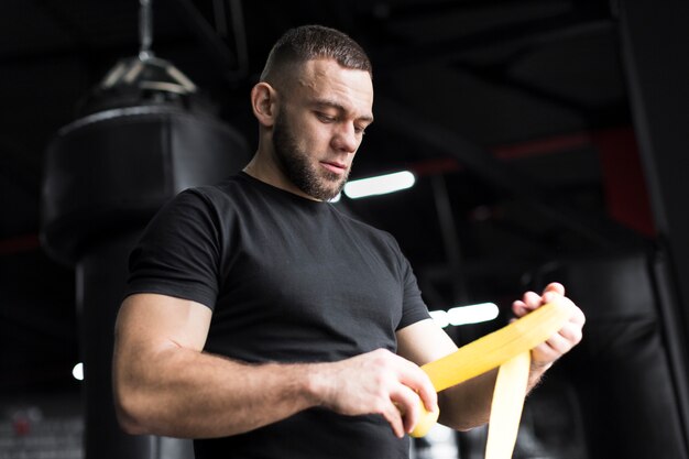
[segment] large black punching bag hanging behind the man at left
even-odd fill
[[[120,429],[111,360],[128,255],[150,218],[178,192],[217,183],[249,160],[242,136],[199,100],[167,62],[123,61],[47,149],[42,240],[76,267],[87,459],[193,458],[188,440]]]

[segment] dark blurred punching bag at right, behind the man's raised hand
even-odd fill
[[[539,435],[543,449],[554,448],[545,456],[689,457],[680,396],[683,362],[672,350],[679,324],[670,313],[676,305],[663,294],[664,263],[655,247],[639,247],[562,260],[537,273],[538,285],[564,283],[587,316],[581,343],[534,393],[540,401],[532,438]],[[542,391],[550,382],[557,389]],[[569,441],[572,433],[586,440],[586,453]],[[577,453],[557,456],[564,444],[566,452]]]

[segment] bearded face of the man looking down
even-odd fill
[[[333,61],[310,61],[291,86],[273,125],[276,164],[305,195],[332,199],[373,121],[371,77]]]

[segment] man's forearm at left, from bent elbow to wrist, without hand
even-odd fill
[[[228,436],[318,404],[316,365],[253,365],[179,348],[151,360],[124,367],[116,354],[118,417],[131,434]]]

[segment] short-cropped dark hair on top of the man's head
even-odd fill
[[[302,25],[281,36],[265,62],[261,80],[291,64],[313,59],[333,59],[340,66],[368,72],[373,77],[369,56],[349,35],[322,25]]]

